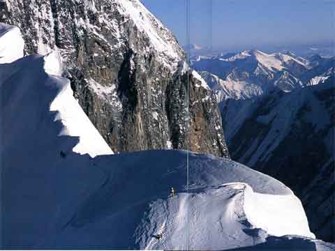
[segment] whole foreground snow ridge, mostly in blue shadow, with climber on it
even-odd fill
[[[112,152],[57,75],[57,53],[10,60],[0,64],[1,248],[334,250],[315,240],[288,187],[237,162],[101,155]]]

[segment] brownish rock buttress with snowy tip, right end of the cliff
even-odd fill
[[[177,75],[167,93],[171,97],[166,107],[170,131],[174,135],[173,147],[229,156],[223,131],[220,132],[221,115],[216,109],[216,97],[198,73]],[[207,111],[207,114],[202,111]]]

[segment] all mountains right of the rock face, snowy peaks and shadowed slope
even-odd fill
[[[216,92],[232,159],[289,185],[311,229],[328,241],[335,223],[334,63],[259,50],[192,59]]]

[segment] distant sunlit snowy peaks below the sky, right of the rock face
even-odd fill
[[[305,59],[290,52],[266,54],[259,50],[199,56],[192,60],[192,66],[208,82],[216,82],[220,101],[253,98],[274,88],[292,91],[303,85],[299,78],[310,68]]]

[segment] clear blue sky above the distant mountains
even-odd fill
[[[190,1],[191,43],[228,50],[334,43],[335,0]],[[186,44],[186,0],[142,3]]]

